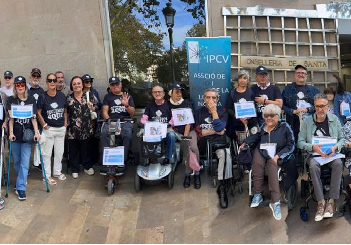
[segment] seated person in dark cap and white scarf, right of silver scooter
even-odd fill
[[[183,99],[182,97],[182,90],[184,91],[185,89],[181,87],[179,84],[173,83],[171,90],[168,92],[168,95],[170,96],[170,109],[181,109],[181,108],[191,108],[192,106],[188,100]],[[190,136],[190,143],[188,140],[182,141],[182,147],[183,147],[183,153],[185,158],[183,158],[183,162],[185,162],[185,179],[183,186],[184,188],[190,187],[190,174],[192,172],[192,169],[189,166],[189,145],[190,144],[190,149],[192,152],[196,154],[197,161],[200,161],[200,154],[199,154],[199,149],[197,147],[197,136],[196,132],[194,131],[193,125],[191,124],[186,124],[186,125],[181,125],[181,126],[176,126],[176,131],[178,134],[184,135],[184,136]],[[184,142],[184,144],[183,144]],[[185,161],[184,161],[185,159]],[[201,180],[200,180],[200,172],[197,171],[195,173],[195,180],[194,180],[194,187],[195,189],[201,188]]]

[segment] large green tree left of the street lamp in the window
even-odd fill
[[[113,11],[117,10],[114,6]],[[130,12],[121,12],[118,24],[111,28],[111,36],[115,69],[132,78],[146,72],[154,63],[155,54],[163,48],[162,37],[145,28]]]

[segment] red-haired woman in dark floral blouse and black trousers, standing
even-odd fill
[[[87,149],[89,149],[89,137],[93,135],[90,113],[98,110],[98,99],[89,93],[90,101],[87,101],[87,93],[83,92],[83,81],[79,76],[72,77],[70,88],[73,93],[67,96],[69,160],[72,176],[77,179],[80,163],[86,174],[94,174],[94,164],[89,158]]]

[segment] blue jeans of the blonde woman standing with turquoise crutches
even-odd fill
[[[16,190],[27,189],[29,159],[31,158],[32,144],[12,142],[13,167],[17,173]]]

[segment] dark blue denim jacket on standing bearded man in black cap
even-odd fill
[[[304,100],[306,100],[307,103],[310,103],[311,105],[313,105],[314,104],[313,97],[317,93],[319,93],[319,89],[306,84]],[[293,110],[297,109],[296,101],[299,99],[299,97],[297,97],[296,83],[287,85],[282,92],[282,97],[283,97],[283,110],[286,114],[286,122],[289,125],[292,125],[292,121],[293,121],[292,112]],[[310,108],[311,108],[311,113],[314,113],[315,112],[314,107],[312,106]]]

